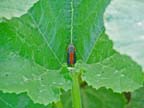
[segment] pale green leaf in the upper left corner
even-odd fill
[[[0,1],[0,18],[11,19],[20,17],[38,0],[1,0]]]

